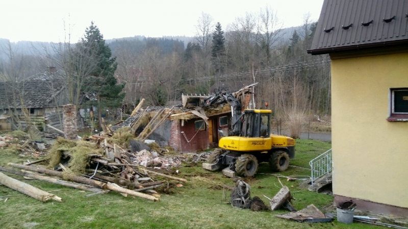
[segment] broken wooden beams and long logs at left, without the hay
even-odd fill
[[[68,160],[71,155],[64,152],[61,158],[65,158],[65,160],[59,163],[59,166],[55,168],[56,170],[33,165],[35,163],[29,165],[9,163],[10,167],[21,169],[21,171],[4,167],[0,167],[0,171],[94,192],[94,194],[89,194],[88,196],[116,191],[124,196],[131,195],[151,201],[159,201],[161,195],[155,189],[163,186],[164,183],[168,184],[164,179],[187,182],[186,179],[166,175],[136,165],[132,159],[136,157],[135,152],[124,150],[116,144],[111,145],[106,139],[104,141],[100,139],[94,141],[95,147],[103,148],[105,155],[88,155],[86,158],[88,166],[85,174],[69,173],[70,166],[72,165],[68,163]],[[41,201],[48,199],[61,200],[58,196],[36,189],[3,173],[0,173],[0,184]]]

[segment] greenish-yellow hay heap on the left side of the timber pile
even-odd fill
[[[64,154],[64,155],[63,155]],[[61,158],[69,158],[68,167],[72,174],[85,173],[89,165],[91,154],[103,155],[103,150],[95,143],[87,141],[72,141],[58,138],[56,143],[49,149],[49,168],[54,168],[61,162]]]

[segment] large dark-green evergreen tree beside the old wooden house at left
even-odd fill
[[[101,111],[106,107],[119,107],[124,98],[124,84],[117,84],[114,73],[116,58],[112,58],[111,49],[105,44],[104,36],[91,22],[82,38],[85,55],[94,61],[90,76],[84,79],[83,91],[96,95],[96,101],[88,105],[96,105],[98,109],[99,127],[101,126]],[[96,102],[96,104],[95,104]]]

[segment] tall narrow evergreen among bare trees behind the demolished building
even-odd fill
[[[211,56],[216,67],[216,71],[221,74],[223,69],[223,63],[225,58],[225,38],[224,31],[221,29],[220,22],[217,22],[215,26],[215,31],[213,32],[213,44],[211,45]]]

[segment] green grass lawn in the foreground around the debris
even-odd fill
[[[329,148],[329,143],[297,141],[296,159],[292,164],[308,166],[310,159]],[[21,163],[28,158],[18,154],[0,148],[0,165]],[[173,194],[163,194],[160,202],[125,198],[114,192],[85,197],[90,193],[7,174],[45,191],[61,190],[54,194],[63,201],[43,203],[0,185],[0,196],[18,195],[9,197],[6,202],[0,200],[0,225],[2,228],[376,228],[362,223],[347,225],[336,220],[333,223],[299,223],[273,216],[287,213],[284,210],[252,212],[235,209],[222,201],[224,191],[219,189],[220,184],[233,186],[231,178],[222,176],[221,172],[205,171],[201,164],[185,164],[178,169],[178,176],[188,182],[172,189]],[[259,173],[245,181],[251,186],[252,197],[259,196],[266,201],[262,195],[273,197],[279,190],[276,187],[279,182],[274,176],[261,174],[271,173],[266,163],[260,165]],[[282,175],[310,175],[310,171],[290,167]],[[311,203],[322,209],[333,202],[332,196],[299,190],[298,181],[281,180],[293,192],[296,198],[293,204],[298,210]],[[225,193],[228,199],[230,191]]]

